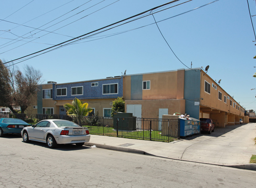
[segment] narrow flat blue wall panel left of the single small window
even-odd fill
[[[143,75],[131,76],[131,100],[142,100]]]

